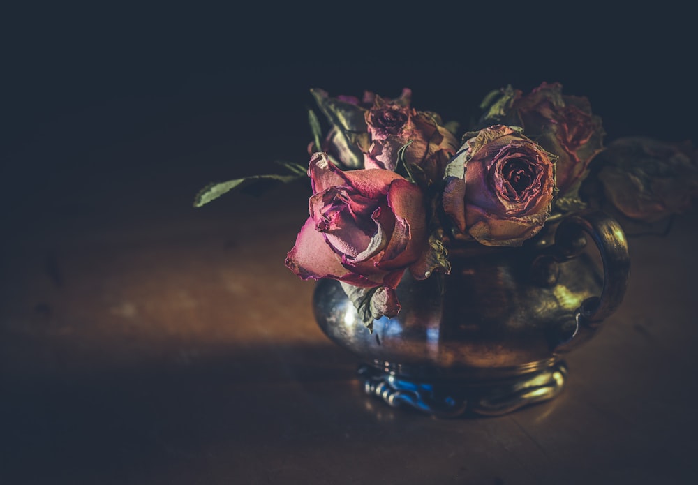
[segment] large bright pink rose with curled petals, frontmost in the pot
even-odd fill
[[[310,216],[286,266],[307,279],[332,278],[362,288],[385,287],[383,314],[399,311],[394,288],[426,253],[422,191],[389,170],[339,170],[324,152],[308,167]]]

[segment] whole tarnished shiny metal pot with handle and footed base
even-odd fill
[[[395,318],[373,331],[339,282],[321,280],[322,331],[362,361],[366,392],[441,417],[500,415],[558,395],[565,352],[614,313],[628,281],[621,227],[601,212],[567,216],[519,248],[450,247],[452,270],[406,271]],[[595,242],[600,264],[585,249]]]

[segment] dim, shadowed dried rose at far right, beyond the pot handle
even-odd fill
[[[605,196],[632,219],[658,222],[690,209],[698,197],[698,152],[690,142],[619,138],[596,163]]]

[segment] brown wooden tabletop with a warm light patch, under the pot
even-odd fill
[[[696,212],[630,240],[623,306],[558,398],[443,420],[366,396],[316,326],[283,265],[306,186],[193,209],[207,176],[124,176],[6,226],[1,484],[696,483]]]

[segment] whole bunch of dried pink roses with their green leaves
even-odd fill
[[[604,147],[589,100],[559,83],[491,91],[465,128],[413,107],[410,89],[311,95],[308,165],[210,184],[195,206],[258,181],[309,177],[309,218],[285,265],[304,280],[339,281],[369,331],[401,311],[406,272],[443,278],[454,248],[532,244],[547,223],[588,207],[651,225],[698,195],[690,142],[628,137]]]

